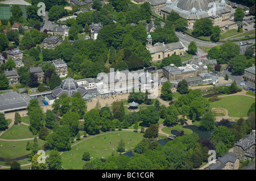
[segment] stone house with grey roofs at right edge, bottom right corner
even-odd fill
[[[234,144],[233,153],[241,161],[255,158],[255,130]]]

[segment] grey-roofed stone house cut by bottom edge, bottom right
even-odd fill
[[[220,159],[216,160],[216,163],[210,164],[205,167],[204,170],[238,170],[239,159],[237,159],[234,153],[229,152],[223,155]]]

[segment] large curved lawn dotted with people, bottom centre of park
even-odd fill
[[[104,139],[104,137],[106,137]],[[90,157],[108,158],[112,153],[117,156],[117,146],[119,140],[123,140],[125,148],[129,151],[134,149],[140,141],[142,141],[143,134],[140,132],[108,132],[105,134],[98,134],[94,137],[88,138],[78,144],[72,146],[72,149],[61,154],[62,166],[65,169],[81,170],[85,162],[82,162],[82,154],[85,150],[90,151]],[[131,140],[130,140],[131,139]],[[111,142],[111,144],[109,144]],[[128,144],[129,142],[129,144]],[[93,148],[95,146],[95,148]],[[114,150],[113,150],[114,148]]]

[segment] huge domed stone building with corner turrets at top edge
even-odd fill
[[[202,18],[209,18],[215,26],[231,18],[231,9],[231,7],[226,6],[225,0],[167,0],[160,15],[167,17],[171,11],[175,11],[181,18],[188,20],[188,27],[193,27],[196,20]]]

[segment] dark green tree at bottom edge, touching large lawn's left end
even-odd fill
[[[58,151],[52,150],[49,153],[49,157],[46,159],[49,170],[61,170],[61,157]]]

